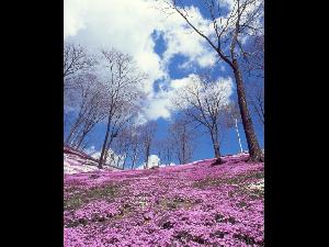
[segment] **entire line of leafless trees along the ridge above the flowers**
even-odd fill
[[[115,162],[135,168],[140,162],[147,165],[151,154],[157,154],[162,164],[189,162],[197,138],[206,134],[217,164],[222,164],[220,141],[225,130],[237,130],[237,122],[241,122],[250,159],[262,161],[253,121],[264,124],[264,36],[260,21],[263,2],[234,2],[232,9],[226,10],[228,13],[224,15],[219,1],[204,1],[213,23],[208,35],[193,24],[188,8],[177,5],[175,1],[168,2],[168,10],[183,18],[190,29],[208,43],[218,60],[227,65],[234,81],[216,80],[211,74],[190,77],[189,83],[177,90],[172,99],[179,114],[174,114],[163,139],[155,139],[156,122],[140,123],[148,98],[143,88],[147,75],[129,55],[116,49],[90,54],[80,45],[65,43],[65,143],[77,149],[86,148],[91,145],[87,136],[102,123],[105,131],[97,141],[101,144],[99,167]],[[230,83],[236,86],[237,102],[228,99]]]

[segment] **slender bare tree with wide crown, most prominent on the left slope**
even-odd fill
[[[138,71],[129,55],[115,49],[102,50],[106,74],[104,86],[107,98],[106,131],[102,145],[99,168],[106,162],[113,138],[138,113],[141,96],[140,82],[146,75]]]

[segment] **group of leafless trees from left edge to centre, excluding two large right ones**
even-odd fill
[[[125,168],[148,164],[157,153],[170,164],[191,160],[191,136],[184,125],[173,122],[163,141],[155,139],[157,123],[140,123],[147,93],[141,72],[133,58],[115,49],[89,54],[80,45],[65,43],[64,102],[65,144],[84,149],[91,143],[88,135],[102,123],[105,132],[99,158],[99,168],[106,162]]]

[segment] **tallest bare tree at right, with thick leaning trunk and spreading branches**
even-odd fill
[[[202,36],[216,52],[219,58],[232,70],[237,85],[238,103],[242,119],[242,125],[250,153],[250,160],[263,160],[262,151],[257,139],[253,124],[249,114],[243,78],[240,69],[240,58],[247,56],[243,50],[242,38],[250,34],[257,35],[262,31],[263,1],[262,0],[232,0],[229,8],[223,1],[203,0],[201,1],[209,16],[213,26],[212,32],[204,32],[200,23],[192,23],[193,18],[189,14],[183,1],[164,1],[168,8],[163,10],[169,14],[171,11],[183,18],[186,24],[200,36]],[[208,26],[206,26],[208,27]]]

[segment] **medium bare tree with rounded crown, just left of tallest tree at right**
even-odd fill
[[[190,120],[204,126],[213,142],[217,164],[222,164],[219,149],[220,112],[228,103],[230,86],[225,81],[214,81],[209,76],[196,76],[178,94],[177,105]]]

